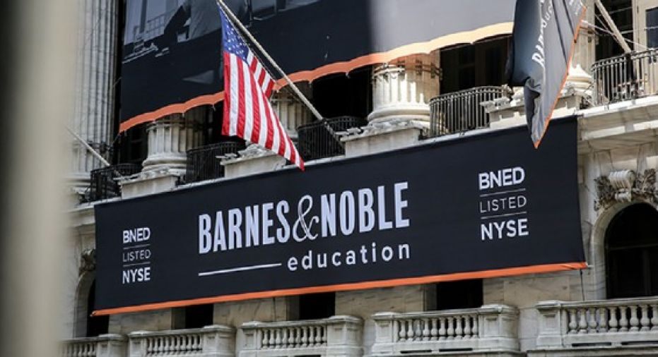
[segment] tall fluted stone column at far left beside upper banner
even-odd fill
[[[104,154],[112,145],[114,64],[117,56],[117,0],[80,0],[76,59],[76,107],[69,126]],[[98,159],[71,138],[69,181],[83,192]]]

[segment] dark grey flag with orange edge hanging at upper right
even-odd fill
[[[523,86],[535,147],[546,133],[567,78],[584,13],[580,0],[517,0],[507,81],[510,86]]]

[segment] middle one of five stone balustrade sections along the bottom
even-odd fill
[[[247,322],[242,325],[245,346],[240,357],[361,356],[363,322],[358,317],[332,316],[322,320]]]

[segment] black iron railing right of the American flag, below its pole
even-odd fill
[[[339,116],[337,118],[314,121],[297,128],[299,134],[298,149],[305,160],[316,160],[324,157],[344,155],[345,149],[327,130],[329,126],[334,133],[346,131],[349,128],[365,126],[368,121],[356,116]]]

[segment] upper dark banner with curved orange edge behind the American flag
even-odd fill
[[[225,0],[293,80],[500,35],[513,0]],[[199,104],[222,90],[216,0],[128,0],[121,130]],[[480,30],[480,32],[474,32]],[[506,30],[505,33],[509,33]],[[450,35],[436,43],[430,43]],[[363,56],[391,54],[392,58]],[[348,61],[361,61],[349,64]],[[307,73],[338,63],[322,73]],[[298,75],[295,75],[298,73]],[[278,73],[276,73],[278,75]],[[157,111],[157,112],[156,112]]]

